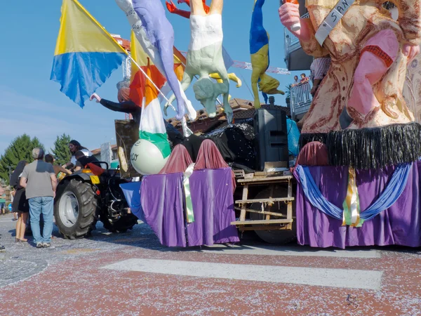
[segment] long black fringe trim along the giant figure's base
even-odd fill
[[[417,123],[302,134],[300,147],[310,141],[326,144],[333,166],[378,169],[415,162],[421,157],[421,125]]]

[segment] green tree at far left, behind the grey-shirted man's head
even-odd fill
[[[15,138],[0,157],[0,178],[8,183],[9,166],[13,170],[20,160],[33,162],[32,150],[35,147],[41,147],[45,151],[44,145],[36,137],[31,139],[27,134],[23,134]]]

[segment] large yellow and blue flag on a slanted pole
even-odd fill
[[[127,57],[127,52],[77,0],[63,0],[51,80],[83,107]]]

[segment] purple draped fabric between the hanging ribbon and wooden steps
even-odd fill
[[[189,246],[239,242],[235,220],[232,170],[203,169],[189,178],[194,223],[187,224]]]

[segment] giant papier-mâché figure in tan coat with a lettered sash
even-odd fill
[[[300,30],[291,32],[307,54],[332,58],[305,116],[302,136],[325,134],[331,144],[342,143],[342,148],[330,148],[342,164],[356,146],[360,155],[377,155],[368,167],[408,162],[420,154],[420,146],[399,146],[402,139],[420,137],[420,126],[408,124],[414,118],[402,90],[408,61],[420,51],[421,1],[390,2],[394,5],[378,0],[307,0],[309,18],[300,18],[297,4],[279,8],[288,29],[300,22]],[[330,32],[323,32],[329,29],[326,25],[332,26]],[[343,145],[354,147],[345,150]]]

